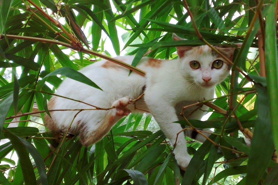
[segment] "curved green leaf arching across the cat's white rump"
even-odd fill
[[[85,75],[82,73],[79,73],[78,71],[75,71],[74,69],[70,67],[61,67],[59,69],[56,69],[52,73],[49,73],[43,79],[41,79],[37,85],[38,89],[41,89],[44,85],[44,82],[47,80],[48,77],[50,76],[56,76],[56,75],[62,75],[71,79],[74,79],[78,82],[82,82],[84,84],[87,84],[89,86],[92,86],[94,88],[102,90],[100,87],[98,87],[94,82],[92,82],[89,78],[87,78]]]

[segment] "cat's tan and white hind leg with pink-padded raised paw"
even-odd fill
[[[89,146],[102,139],[119,119],[131,112],[127,108],[131,100],[129,97],[123,97],[114,101],[112,107],[115,108],[108,110],[102,121],[94,123],[94,126],[89,127],[85,123],[79,123],[79,137],[82,145]]]

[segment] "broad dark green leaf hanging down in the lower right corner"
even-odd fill
[[[274,151],[268,95],[266,88],[259,85],[256,88],[258,93],[258,110],[260,111],[258,111],[255,124],[256,129],[251,142],[246,185],[257,184],[264,174]]]

